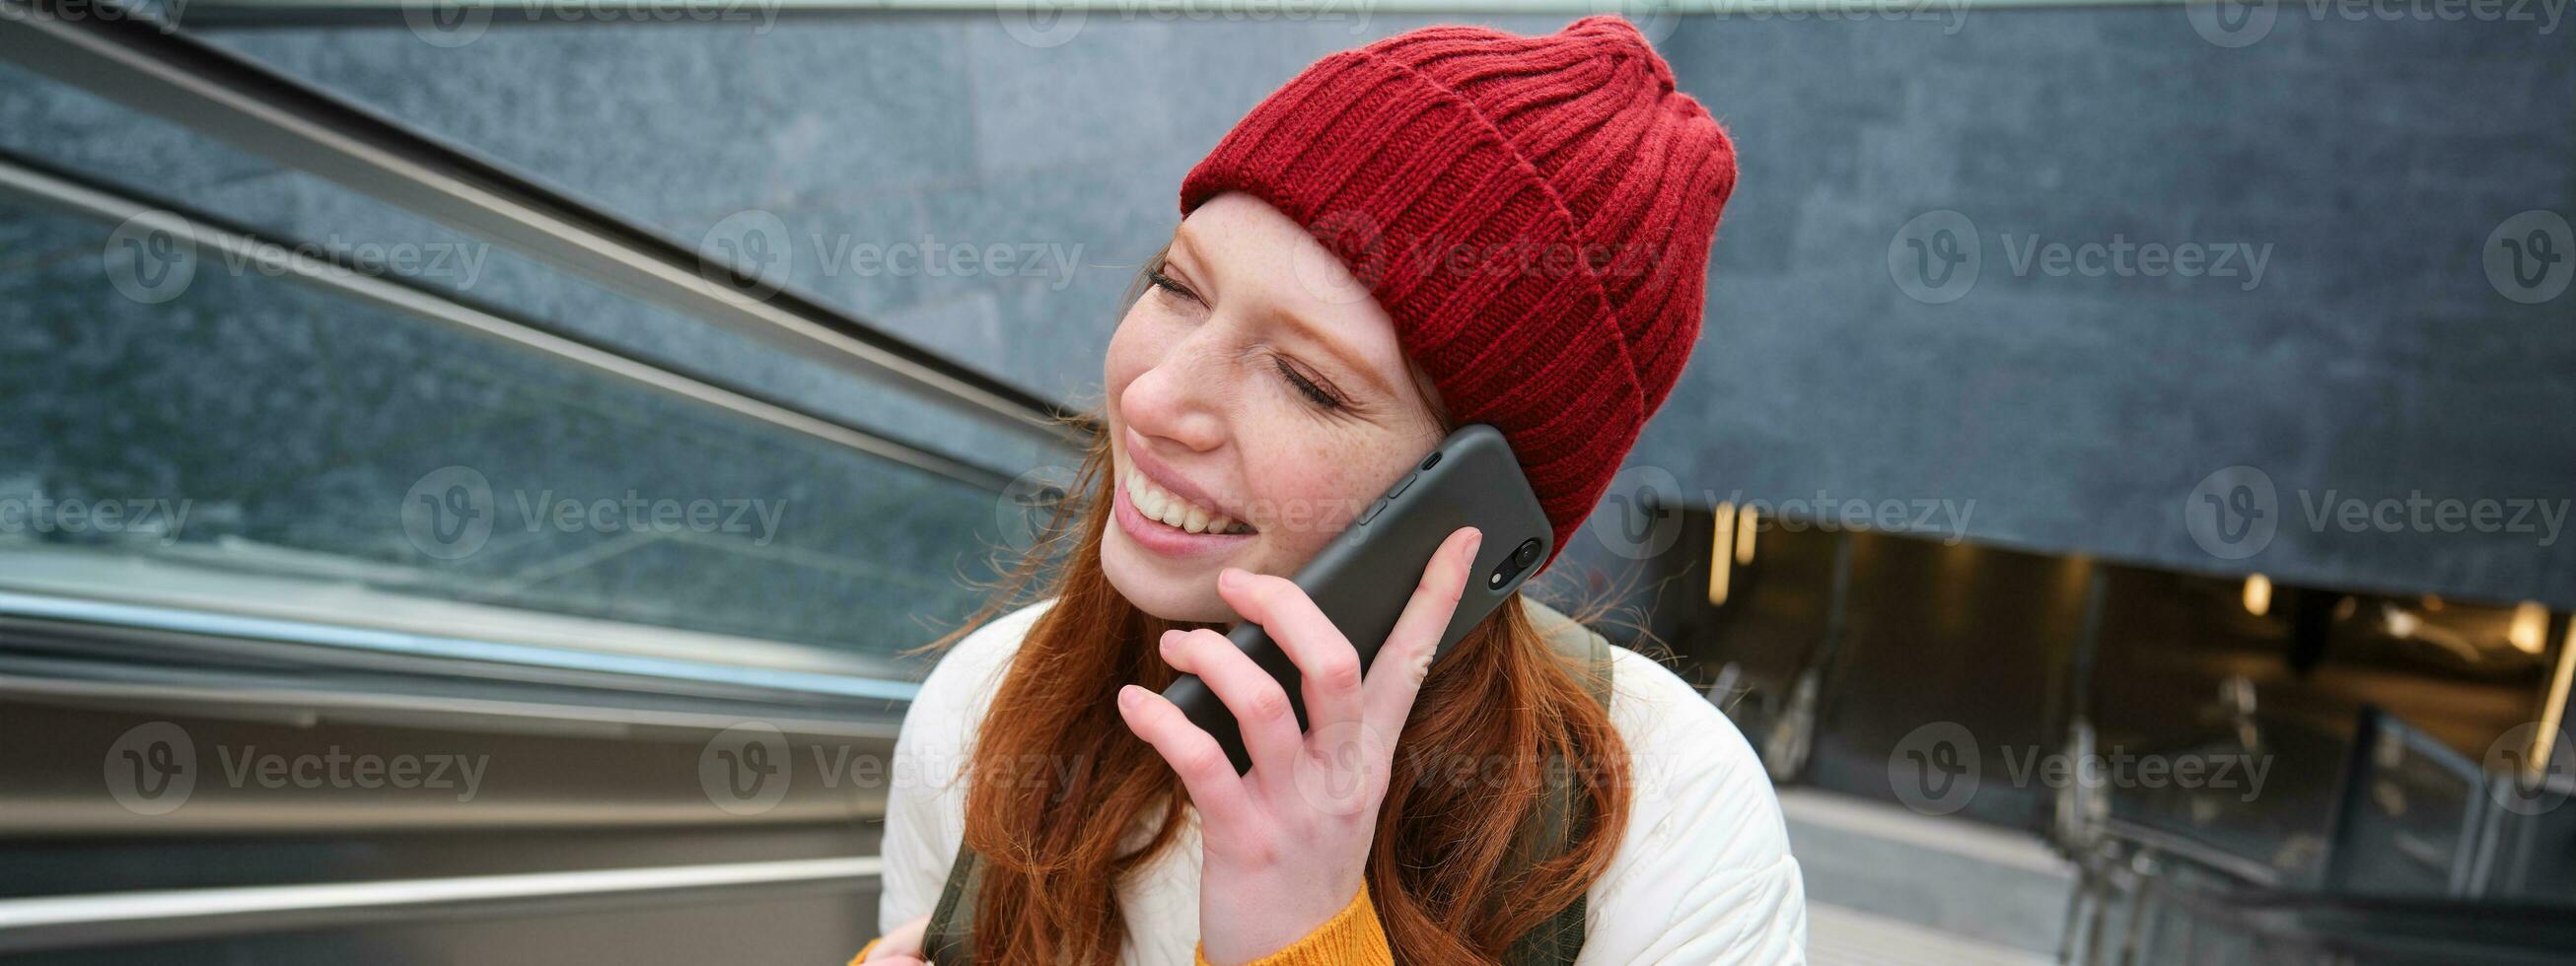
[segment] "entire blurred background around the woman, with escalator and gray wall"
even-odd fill
[[[1814,961],[2576,961],[2563,10],[0,0],[0,958],[848,958],[1180,175],[1623,13],[1741,180],[1533,592]]]

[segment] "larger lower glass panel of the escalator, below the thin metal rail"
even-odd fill
[[[0,585],[214,603],[289,580],[309,587],[263,592],[878,654],[974,600],[976,487],[219,252],[162,260],[167,234],[0,211]],[[155,301],[170,273],[193,278]]]

